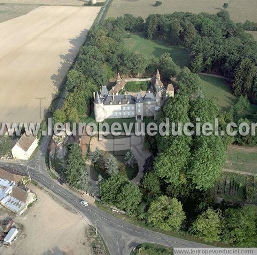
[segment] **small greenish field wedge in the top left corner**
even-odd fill
[[[37,5],[0,4],[0,23],[25,15],[38,7]]]

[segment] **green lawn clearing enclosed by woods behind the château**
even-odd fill
[[[147,56],[160,57],[163,53],[170,53],[174,62],[180,67],[189,66],[189,50],[181,46],[172,46],[164,40],[148,40],[144,34],[132,34],[125,39],[125,46],[132,51],[138,51]]]

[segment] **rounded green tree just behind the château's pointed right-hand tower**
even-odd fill
[[[170,53],[167,52],[160,56],[158,68],[165,79],[170,79],[171,76],[176,76],[179,71],[179,67],[172,60]]]

